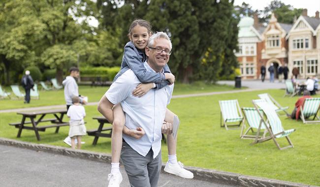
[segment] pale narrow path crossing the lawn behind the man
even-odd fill
[[[218,81],[218,84],[225,84],[234,86],[234,81]],[[248,89],[243,90],[231,90],[224,92],[210,92],[210,93],[201,93],[201,94],[183,94],[183,95],[173,95],[172,98],[183,98],[183,97],[195,97],[195,96],[205,96],[205,95],[215,95],[215,94],[231,94],[231,93],[241,93],[241,92],[252,92],[258,90],[266,89],[285,89],[285,83],[279,83],[277,80],[274,83],[270,83],[267,80],[261,82],[260,80],[244,80],[241,82],[243,87],[248,87]],[[89,102],[89,106],[97,105],[98,102]],[[65,105],[51,105],[51,106],[40,106],[40,107],[31,107],[31,108],[16,108],[16,109],[7,109],[0,110],[0,113],[9,113],[9,112],[23,112],[31,110],[49,110],[49,109],[58,109],[65,108]]]

